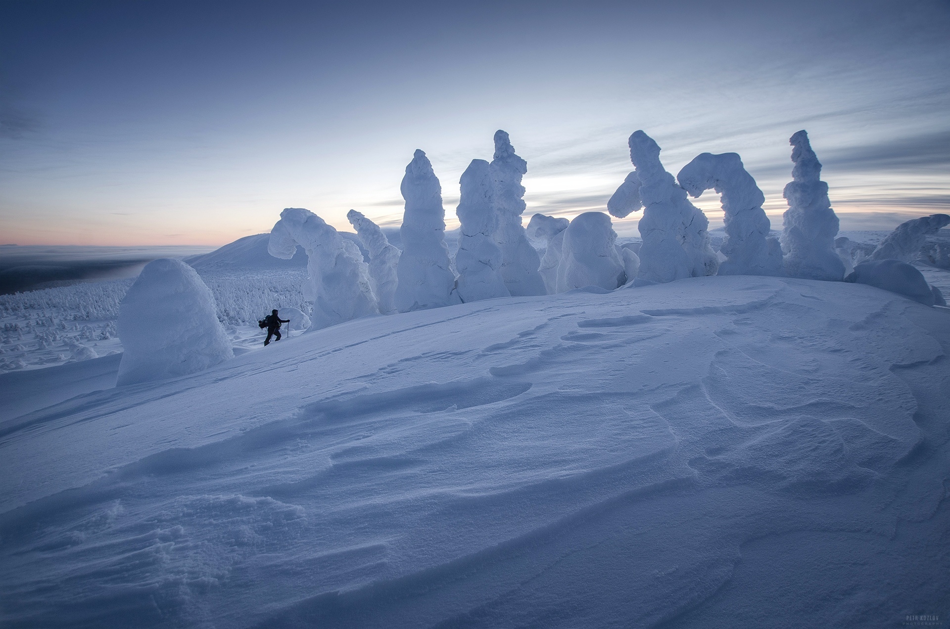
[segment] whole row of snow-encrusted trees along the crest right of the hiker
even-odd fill
[[[642,209],[642,242],[618,246],[610,216],[603,212],[585,212],[570,221],[536,214],[525,229],[522,177],[527,163],[515,153],[508,134],[499,130],[493,160],[472,160],[460,180],[456,213],[461,227],[454,265],[445,240],[442,186],[421,150],[406,167],[401,185],[406,200],[401,252],[371,219],[351,211],[348,218],[370,252],[367,262],[352,241],[301,208],[281,213],[269,251],[292,257],[300,245],[310,257],[305,294],[314,299],[314,329],[362,315],[592,285],[614,290],[712,275],[842,281],[849,274],[849,281],[865,281],[864,276],[874,274],[864,268],[855,275],[854,260],[843,259],[845,245],[835,239],[838,218],[807,133],[795,133],[789,143],[792,181],[784,192],[788,211],[781,238],[769,237],[771,225],[762,209],[765,195],[737,154],[703,153],[674,177],[660,162],[660,147],[643,131],[630,136],[635,170],[606,208],[618,218]],[[710,189],[721,195],[725,213],[726,236],[718,253],[712,248],[709,220],[689,200]],[[950,217],[945,215],[908,221],[870,258],[905,263],[921,249],[927,233],[947,222]],[[528,236],[546,242],[543,257]],[[930,303],[942,301],[938,291],[931,293]]]

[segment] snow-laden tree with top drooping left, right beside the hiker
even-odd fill
[[[312,330],[379,314],[370,269],[356,245],[310,210],[288,207],[271,230],[267,250],[274,257],[289,259],[297,245],[309,258],[304,295],[314,301]]]

